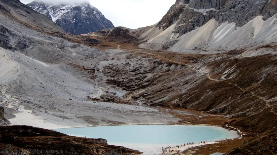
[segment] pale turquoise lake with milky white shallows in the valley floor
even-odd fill
[[[234,130],[216,126],[186,125],[124,125],[55,129],[55,131],[78,137],[103,138],[109,145],[125,146],[144,152],[160,154],[162,147],[184,143],[218,141],[238,138]]]

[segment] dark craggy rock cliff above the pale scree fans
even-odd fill
[[[237,26],[241,27],[258,15],[263,16],[263,20],[272,17],[277,13],[276,5],[275,1],[267,0],[176,1],[157,26],[163,25],[163,29],[166,29],[176,21],[179,21],[177,26],[180,24],[186,26],[175,26],[175,32],[178,33],[181,30],[186,29],[188,29],[186,32],[190,32],[193,29],[206,24],[212,18],[215,18],[215,20],[219,22],[219,25],[228,21],[229,23],[234,22]],[[186,32],[180,33],[179,35],[181,36]]]

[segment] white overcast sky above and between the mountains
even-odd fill
[[[20,0],[27,4],[33,0]],[[80,2],[80,0],[43,0],[44,2]],[[88,0],[87,0],[88,1]],[[114,26],[136,29],[150,26],[166,14],[176,0],[89,0]]]

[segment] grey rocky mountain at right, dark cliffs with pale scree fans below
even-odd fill
[[[276,41],[276,35],[272,36],[276,13],[274,0],[178,0],[157,25],[140,36],[146,41],[140,47],[189,52],[270,43]]]

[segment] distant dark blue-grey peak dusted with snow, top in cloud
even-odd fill
[[[102,29],[114,28],[111,21],[89,2],[81,4],[47,4],[36,0],[27,4],[45,15],[71,34],[87,34]]]

